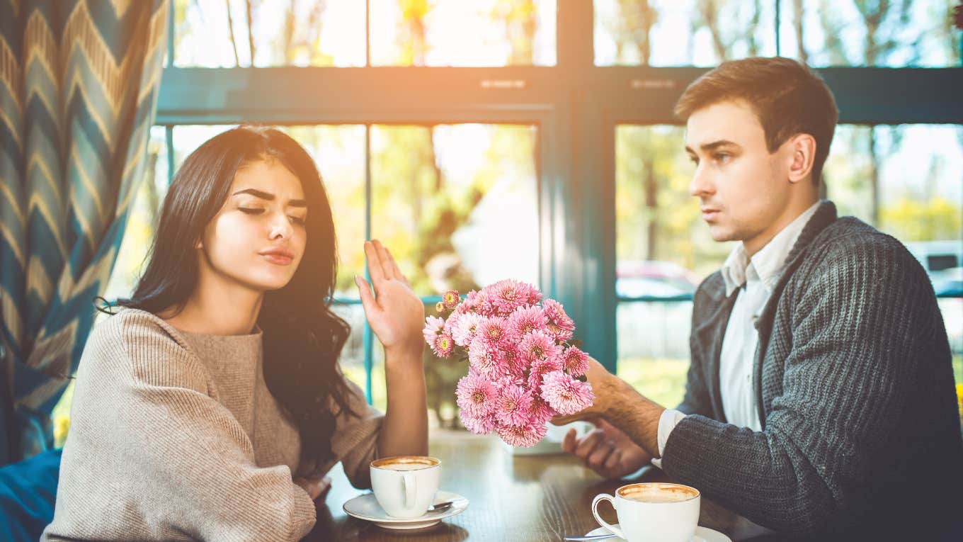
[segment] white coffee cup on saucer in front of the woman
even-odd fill
[[[441,461],[424,455],[385,457],[371,462],[371,488],[377,503],[395,518],[417,518],[434,503]]]

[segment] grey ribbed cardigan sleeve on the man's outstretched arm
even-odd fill
[[[689,416],[665,445],[667,474],[784,531],[817,530],[866,486],[898,439],[915,352],[939,325],[923,270],[892,239],[864,236],[827,253],[804,291],[784,293],[792,349],[779,360],[783,393],[765,429]]]

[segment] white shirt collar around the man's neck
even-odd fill
[[[819,202],[814,203],[802,214],[795,217],[793,222],[776,233],[766,243],[766,246],[752,255],[751,258],[746,255],[742,243],[736,245],[736,248],[729,253],[729,257],[726,257],[721,269],[726,296],[732,295],[736,288],[745,284],[746,268],[750,264],[763,285],[771,290],[782,274],[786,265],[786,257],[789,257],[789,253],[792,252],[796,239],[799,238],[802,229],[806,227],[806,223],[813,217],[819,206]]]

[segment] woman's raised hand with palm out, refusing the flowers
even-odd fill
[[[364,254],[375,294],[372,295],[368,282],[361,277],[355,276],[354,283],[358,286],[368,325],[386,351],[417,354],[420,360],[425,348],[422,338],[425,306],[380,241],[365,241]]]

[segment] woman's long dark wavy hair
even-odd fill
[[[331,205],[314,161],[290,136],[239,126],[192,152],[170,183],[141,281],[117,305],[155,314],[183,310],[197,285],[195,242],[221,210],[237,171],[264,159],[297,176],[307,200],[304,256],[287,285],[265,293],[257,318],[264,333],[264,377],[298,424],[302,455],[326,459],[335,417],[355,414],[337,365],[351,328],[330,309],[337,277]]]

